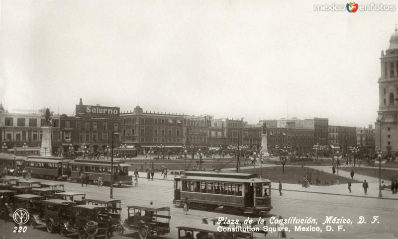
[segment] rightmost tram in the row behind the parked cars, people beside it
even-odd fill
[[[90,181],[97,181],[98,177],[102,177],[105,186],[109,186],[111,182],[111,161],[110,160],[90,160],[75,159],[69,163],[71,168],[71,178],[80,179],[83,173],[89,176]],[[113,159],[113,183],[116,186],[121,184],[132,184],[132,175],[128,175],[128,167],[130,164],[124,163],[124,160]]]

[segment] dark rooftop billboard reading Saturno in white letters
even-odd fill
[[[76,116],[87,118],[118,118],[119,107],[107,107],[99,105],[76,105]]]

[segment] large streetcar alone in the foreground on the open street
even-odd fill
[[[219,206],[231,213],[269,212],[271,181],[252,173],[185,171],[174,178],[173,203],[190,208],[213,210]]]

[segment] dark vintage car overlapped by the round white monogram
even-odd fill
[[[38,213],[40,210],[39,202],[41,200],[43,200],[42,196],[33,194],[18,194],[12,196],[11,201],[6,205],[9,218],[12,218],[15,210],[19,208],[27,210],[29,215]]]

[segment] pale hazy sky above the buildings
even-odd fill
[[[122,112],[367,127],[398,10],[314,11],[319,2],[1,0],[0,101],[10,112],[72,115],[83,98]]]

